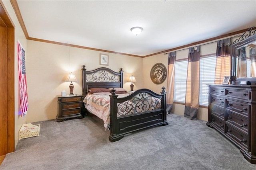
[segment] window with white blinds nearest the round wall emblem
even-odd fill
[[[174,101],[185,103],[188,60],[175,63]]]

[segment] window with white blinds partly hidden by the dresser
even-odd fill
[[[199,105],[208,106],[208,86],[214,84],[216,56],[200,58]]]

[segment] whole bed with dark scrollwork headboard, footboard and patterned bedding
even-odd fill
[[[156,94],[149,89],[139,89],[132,93],[120,93],[123,89],[123,69],[115,72],[109,68],[101,67],[87,71],[82,66],[82,95],[84,110],[92,114],[99,114],[100,108],[104,110],[97,115],[104,121],[104,127],[110,129],[109,140],[118,141],[125,134],[152,127],[156,125],[168,125],[166,121],[166,91],[162,87],[161,94]],[[108,89],[108,92],[99,92],[94,95],[92,89]],[[91,93],[91,94],[89,94]],[[100,99],[100,97],[104,99]],[[103,106],[92,104],[103,103]],[[108,100],[106,101],[106,98]],[[95,107],[96,106],[96,107]],[[95,112],[96,113],[93,113]],[[98,111],[97,111],[98,110]],[[102,118],[104,117],[104,118]]]

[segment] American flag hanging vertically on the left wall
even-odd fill
[[[18,73],[20,87],[20,110],[21,116],[23,116],[26,115],[28,111],[28,92],[25,67],[25,50],[22,48],[20,41],[18,41]]]

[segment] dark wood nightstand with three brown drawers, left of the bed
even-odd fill
[[[57,96],[58,114],[57,122],[65,121],[71,118],[83,118],[82,116],[82,95]]]

